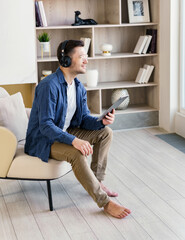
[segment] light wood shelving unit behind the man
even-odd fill
[[[116,111],[120,118],[130,114],[132,125],[138,113],[147,115],[143,126],[158,125],[159,108],[159,56],[156,54],[133,54],[140,35],[146,34],[147,28],[158,29],[159,33],[159,0],[150,2],[150,23],[128,22],[127,0],[43,0],[48,27],[37,27],[36,34],[45,31],[51,36],[51,57],[40,57],[37,43],[38,81],[43,69],[52,70],[58,67],[57,47],[66,39],[91,38],[88,52],[88,69],[97,69],[99,83],[95,88],[86,87],[84,75],[78,78],[87,89],[88,106],[92,114],[101,114],[111,104],[111,92],[117,88],[126,88],[130,95],[130,104],[124,111]],[[92,18],[98,25],[71,26],[74,23],[74,11],[80,10],[80,17]],[[113,45],[112,55],[104,57],[100,44]],[[155,70],[148,84],[136,84],[135,78],[140,67],[152,64]],[[136,114],[136,115],[133,115]],[[141,116],[141,115],[140,115]],[[127,116],[128,119],[129,116]],[[144,117],[144,115],[143,115]],[[133,119],[132,119],[133,118]],[[132,121],[133,120],[133,121]],[[116,123],[117,124],[117,123]],[[124,128],[123,123],[118,124]],[[127,124],[126,124],[127,125]]]

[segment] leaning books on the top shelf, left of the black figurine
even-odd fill
[[[46,14],[43,1],[35,1],[36,27],[47,27]]]

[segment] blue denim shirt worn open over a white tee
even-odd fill
[[[70,127],[97,130],[104,127],[102,121],[90,115],[87,107],[86,90],[75,78],[76,112]],[[36,87],[35,97],[29,119],[25,153],[37,156],[48,162],[51,145],[57,141],[72,145],[75,136],[64,132],[67,113],[67,83],[60,68]]]

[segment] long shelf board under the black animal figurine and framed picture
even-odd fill
[[[143,26],[157,26],[158,23],[122,23],[122,24],[97,24],[97,25],[59,25],[59,26],[48,26],[48,27],[36,27],[36,30],[58,30],[58,29],[76,29],[76,28],[111,28],[111,27],[143,27]]]

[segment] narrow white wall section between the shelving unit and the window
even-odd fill
[[[159,125],[175,131],[179,101],[179,0],[160,1]]]

